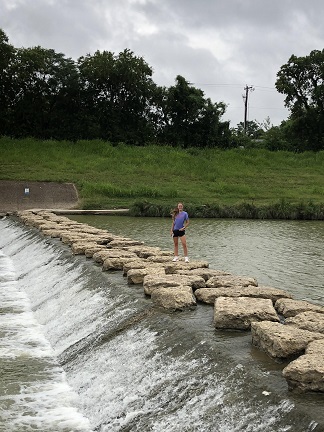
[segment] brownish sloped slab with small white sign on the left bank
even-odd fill
[[[0,212],[33,208],[73,209],[79,197],[73,183],[0,180]]]

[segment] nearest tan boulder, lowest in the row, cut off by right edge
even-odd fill
[[[324,339],[310,342],[305,355],[282,371],[290,390],[324,392]]]

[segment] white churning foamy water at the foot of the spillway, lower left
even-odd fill
[[[49,341],[0,251],[0,430],[90,431]]]

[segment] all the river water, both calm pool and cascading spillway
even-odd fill
[[[71,216],[72,218],[72,216]],[[73,216],[172,248],[170,221]],[[249,332],[213,308],[161,312],[143,288],[0,219],[0,430],[324,431],[324,396],[294,394]],[[324,305],[324,222],[192,219],[189,257]]]

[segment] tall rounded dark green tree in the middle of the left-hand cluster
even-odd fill
[[[150,140],[156,85],[143,58],[127,49],[119,55],[96,51],[80,57],[78,66],[90,136],[134,144]]]

